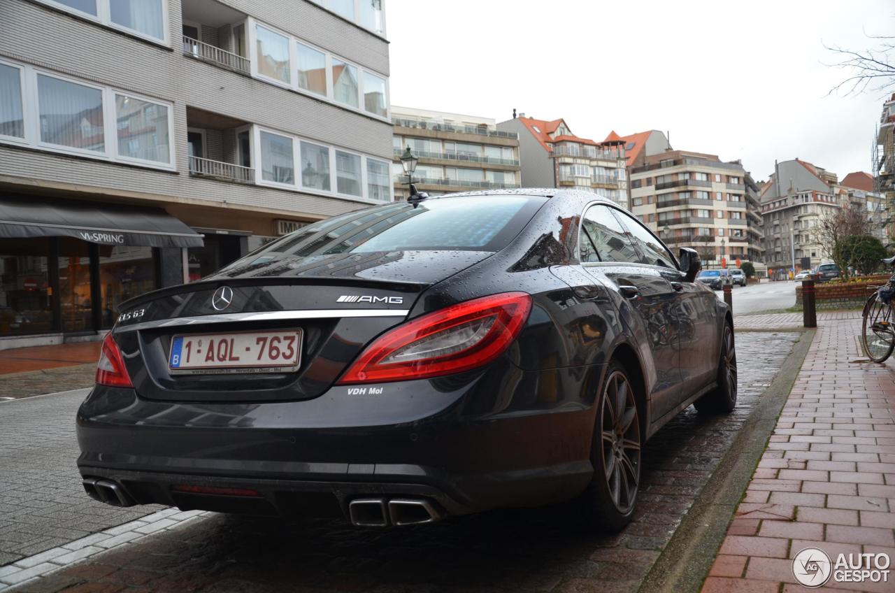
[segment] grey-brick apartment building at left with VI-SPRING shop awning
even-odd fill
[[[0,348],[95,335],[128,297],[393,199],[379,0],[0,14]]]

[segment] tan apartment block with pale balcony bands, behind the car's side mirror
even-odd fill
[[[762,261],[758,187],[742,163],[670,147],[632,158],[631,211],[666,244],[694,248],[706,266]]]

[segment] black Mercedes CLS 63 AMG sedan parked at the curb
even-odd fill
[[[323,220],[122,306],[77,415],[84,487],[358,526],[566,503],[620,529],[644,442],[737,401],[700,265],[593,193]]]

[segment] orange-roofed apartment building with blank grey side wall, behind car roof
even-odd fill
[[[570,187],[596,193],[627,208],[625,145],[619,138],[594,142],[572,133],[563,119],[516,116],[498,130],[519,134],[525,187]]]

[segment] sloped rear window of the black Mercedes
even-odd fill
[[[519,234],[545,201],[539,196],[477,195],[396,202],[322,220],[246,258],[260,263],[381,251],[496,252]]]

